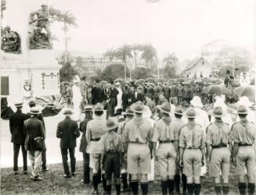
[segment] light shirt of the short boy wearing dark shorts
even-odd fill
[[[121,136],[115,132],[108,132],[100,138],[100,145],[103,152],[117,151],[123,152]]]

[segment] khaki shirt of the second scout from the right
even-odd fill
[[[232,142],[232,133],[229,125],[225,122],[211,123],[206,131],[206,143],[212,146],[229,144]]]

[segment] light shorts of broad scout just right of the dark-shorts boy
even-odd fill
[[[147,144],[129,143],[127,161],[129,174],[149,174],[151,169],[150,147]]]

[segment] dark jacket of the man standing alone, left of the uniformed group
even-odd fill
[[[56,137],[60,138],[61,148],[73,148],[77,146],[77,138],[80,136],[78,123],[67,116],[59,122]]]

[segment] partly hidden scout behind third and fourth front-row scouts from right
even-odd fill
[[[181,105],[178,105],[175,107],[174,114],[175,114],[175,119],[173,119],[173,121],[175,122],[175,133],[177,133],[175,137],[178,137],[178,140],[179,140],[180,130],[182,126],[186,124],[186,122],[182,120],[183,111],[182,111]],[[175,170],[175,192],[180,194],[180,189],[179,189],[179,183],[181,180],[180,172],[182,173],[182,194],[185,195],[186,194],[186,175],[183,173],[183,168],[180,168],[179,165],[176,165],[176,170]]]

